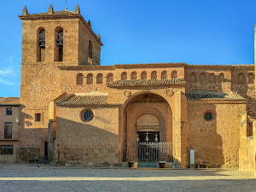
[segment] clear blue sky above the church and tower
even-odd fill
[[[65,9],[66,0],[9,0],[0,12],[0,96],[20,96],[21,20]],[[186,62],[252,64],[254,0],[67,0],[102,37],[102,65]]]

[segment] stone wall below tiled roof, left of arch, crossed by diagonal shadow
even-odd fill
[[[56,163],[84,166],[119,161],[119,108],[91,108],[95,118],[84,122],[84,108],[56,108]]]

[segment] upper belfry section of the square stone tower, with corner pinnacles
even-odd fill
[[[92,31],[90,20],[67,9],[22,15],[22,64],[61,64],[98,66],[101,61],[100,35]]]

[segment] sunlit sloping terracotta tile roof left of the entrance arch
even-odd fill
[[[77,96],[75,94],[68,94],[59,101],[56,105],[107,105],[108,96]]]

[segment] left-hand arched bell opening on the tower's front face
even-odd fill
[[[38,28],[38,53],[37,61],[45,61],[45,30]]]

